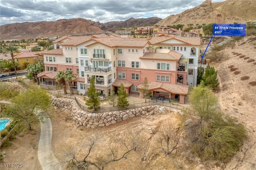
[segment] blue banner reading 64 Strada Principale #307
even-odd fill
[[[246,36],[246,24],[213,24],[214,36]]]

